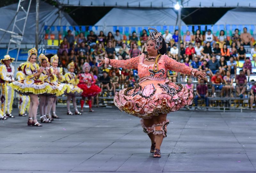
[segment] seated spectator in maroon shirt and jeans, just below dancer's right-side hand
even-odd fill
[[[195,97],[195,107],[197,107],[197,102],[199,99],[204,99],[205,106],[209,106],[209,99],[208,99],[208,87],[204,83],[204,79],[200,79],[200,84],[196,86],[196,97]],[[208,108],[207,108],[208,109]]]

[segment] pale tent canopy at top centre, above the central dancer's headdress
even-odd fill
[[[175,26],[177,20],[177,14],[171,8],[113,8],[102,19],[100,19],[95,26],[99,26],[100,30],[103,26],[106,28],[106,32],[113,32],[113,27],[129,26],[129,32],[140,31],[139,28],[145,27],[160,27],[161,30],[165,28],[169,29],[169,26]],[[181,21],[182,26],[186,24]],[[117,29],[118,29],[117,28]],[[121,31],[122,32],[122,31]],[[124,33],[125,31],[123,31]],[[172,31],[173,32],[173,31]]]

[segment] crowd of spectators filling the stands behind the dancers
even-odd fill
[[[237,96],[243,97],[247,81],[250,80],[252,73],[252,62],[249,57],[246,57],[244,45],[252,47],[251,55],[254,66],[256,63],[256,44],[253,47],[252,35],[247,32],[246,27],[244,27],[242,34],[239,34],[239,30],[236,29],[229,41],[223,30],[218,36],[214,36],[209,29],[204,35],[200,30],[195,31],[193,35],[187,31],[183,38],[180,38],[180,49],[178,48],[178,30],[175,30],[173,35],[165,30],[163,38],[170,58],[200,71],[205,70],[209,76],[198,80],[195,92],[196,105],[197,100],[202,98],[205,99],[206,106],[208,106],[208,95],[215,97],[217,90],[220,90],[220,96],[233,97],[234,91]],[[111,96],[117,89],[137,85],[139,80],[137,71],[136,69],[124,70],[114,67],[103,70],[98,67],[98,59],[108,57],[125,60],[136,57],[147,52],[147,40],[148,33],[146,30],[143,30],[140,35],[133,32],[128,38],[122,35],[119,30],[116,30],[114,34],[108,32],[107,35],[103,31],[100,31],[99,35],[90,31],[86,37],[80,33],[76,39],[71,31],[68,31],[58,50],[59,65],[65,69],[67,64],[73,61],[76,65],[76,73],[81,73],[84,62],[88,62],[92,67],[91,73],[99,81],[101,89],[106,89]],[[139,41],[140,47],[138,46]],[[240,60],[244,61],[242,66],[239,63]],[[236,75],[237,68],[242,68],[239,75]],[[178,80],[180,82],[181,80],[187,81],[187,84],[191,83],[190,75],[181,75],[181,78],[178,79],[178,73],[175,71],[168,71],[167,77],[172,82]],[[233,82],[236,83],[235,88]],[[206,89],[205,83],[212,85]],[[208,89],[212,91],[208,92]]]

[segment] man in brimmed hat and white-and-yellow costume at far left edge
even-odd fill
[[[14,91],[10,86],[11,82],[14,82],[14,67],[12,61],[14,58],[11,58],[9,55],[5,55],[4,59],[1,59],[3,65],[0,66],[0,84],[1,84],[1,110],[6,117],[14,118],[12,113],[12,103]]]

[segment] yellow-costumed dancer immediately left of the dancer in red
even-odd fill
[[[77,80],[76,74],[74,73],[75,71],[75,64],[73,62],[68,64],[68,72],[65,74],[65,80],[67,83],[67,91],[66,91],[66,95],[67,95],[67,115],[74,115],[71,111],[70,111],[70,101],[72,99],[73,102],[73,106],[75,109],[75,115],[82,115],[78,109],[77,109],[77,105],[76,105],[76,97],[80,96],[83,93],[83,90],[80,89],[77,84],[79,83],[79,80]]]

